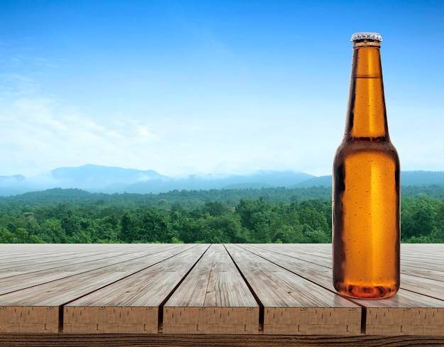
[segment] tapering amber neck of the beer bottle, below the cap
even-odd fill
[[[349,141],[389,141],[380,47],[376,40],[353,43],[345,128],[345,138]]]

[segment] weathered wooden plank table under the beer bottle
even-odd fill
[[[0,245],[0,346],[30,341],[444,346],[444,244],[401,245],[381,300],[335,293],[329,244]]]

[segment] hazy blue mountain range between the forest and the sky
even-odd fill
[[[404,186],[444,186],[444,172],[401,172]],[[331,176],[316,177],[304,172],[260,170],[248,175],[196,174],[168,177],[154,170],[83,165],[59,167],[43,175],[0,176],[0,195],[8,196],[51,188],[79,188],[103,193],[160,193],[178,190],[235,189],[262,187],[331,186]]]

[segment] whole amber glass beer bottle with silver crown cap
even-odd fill
[[[333,285],[363,299],[399,290],[399,157],[390,141],[378,33],[355,33],[347,119],[333,162]]]

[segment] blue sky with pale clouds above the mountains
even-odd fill
[[[444,1],[0,0],[0,175],[330,175],[358,31],[401,170],[444,170]]]

